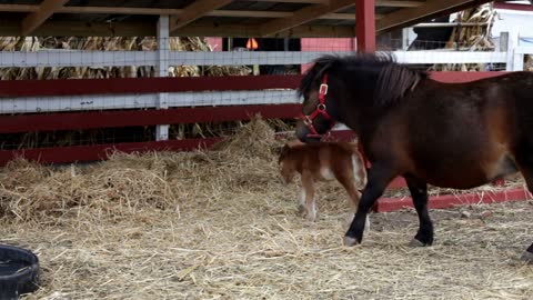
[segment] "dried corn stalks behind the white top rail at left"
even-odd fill
[[[0,38],[0,51],[39,51],[53,50],[87,50],[87,51],[153,51],[158,47],[155,38]],[[170,38],[171,51],[212,51],[209,43],[202,38]],[[251,73],[245,66],[208,66],[202,69],[198,66],[172,66],[170,77],[198,76],[243,76]],[[81,79],[81,78],[137,78],[154,77],[155,70],[147,67],[61,67],[61,68],[1,68],[1,80],[24,79]]]

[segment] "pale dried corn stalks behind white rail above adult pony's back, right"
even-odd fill
[[[482,4],[459,13],[456,23],[476,23],[476,26],[456,26],[447,41],[445,49],[459,51],[493,51],[494,43],[490,39],[491,28],[496,11],[492,3]],[[435,64],[432,71],[485,71],[484,63],[447,63]]]

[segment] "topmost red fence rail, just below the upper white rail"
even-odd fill
[[[503,73],[505,72],[432,72],[431,77],[442,82],[466,82]],[[0,81],[0,98],[296,89],[301,79],[302,76],[224,76],[3,80]]]

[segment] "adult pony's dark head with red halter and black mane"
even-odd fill
[[[304,100],[296,136],[303,142],[319,141],[335,121],[345,123],[356,113],[386,108],[422,78],[424,72],[399,64],[385,53],[323,56],[300,83],[299,97]],[[355,111],[346,111],[353,108]]]

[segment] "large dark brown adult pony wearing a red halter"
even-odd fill
[[[335,121],[353,129],[372,167],[344,243],[360,243],[369,209],[405,178],[420,228],[411,246],[431,246],[428,183],[470,189],[520,171],[533,192],[533,73],[442,83],[385,54],[324,56],[301,81],[301,141]],[[533,244],[522,256],[533,261]]]

